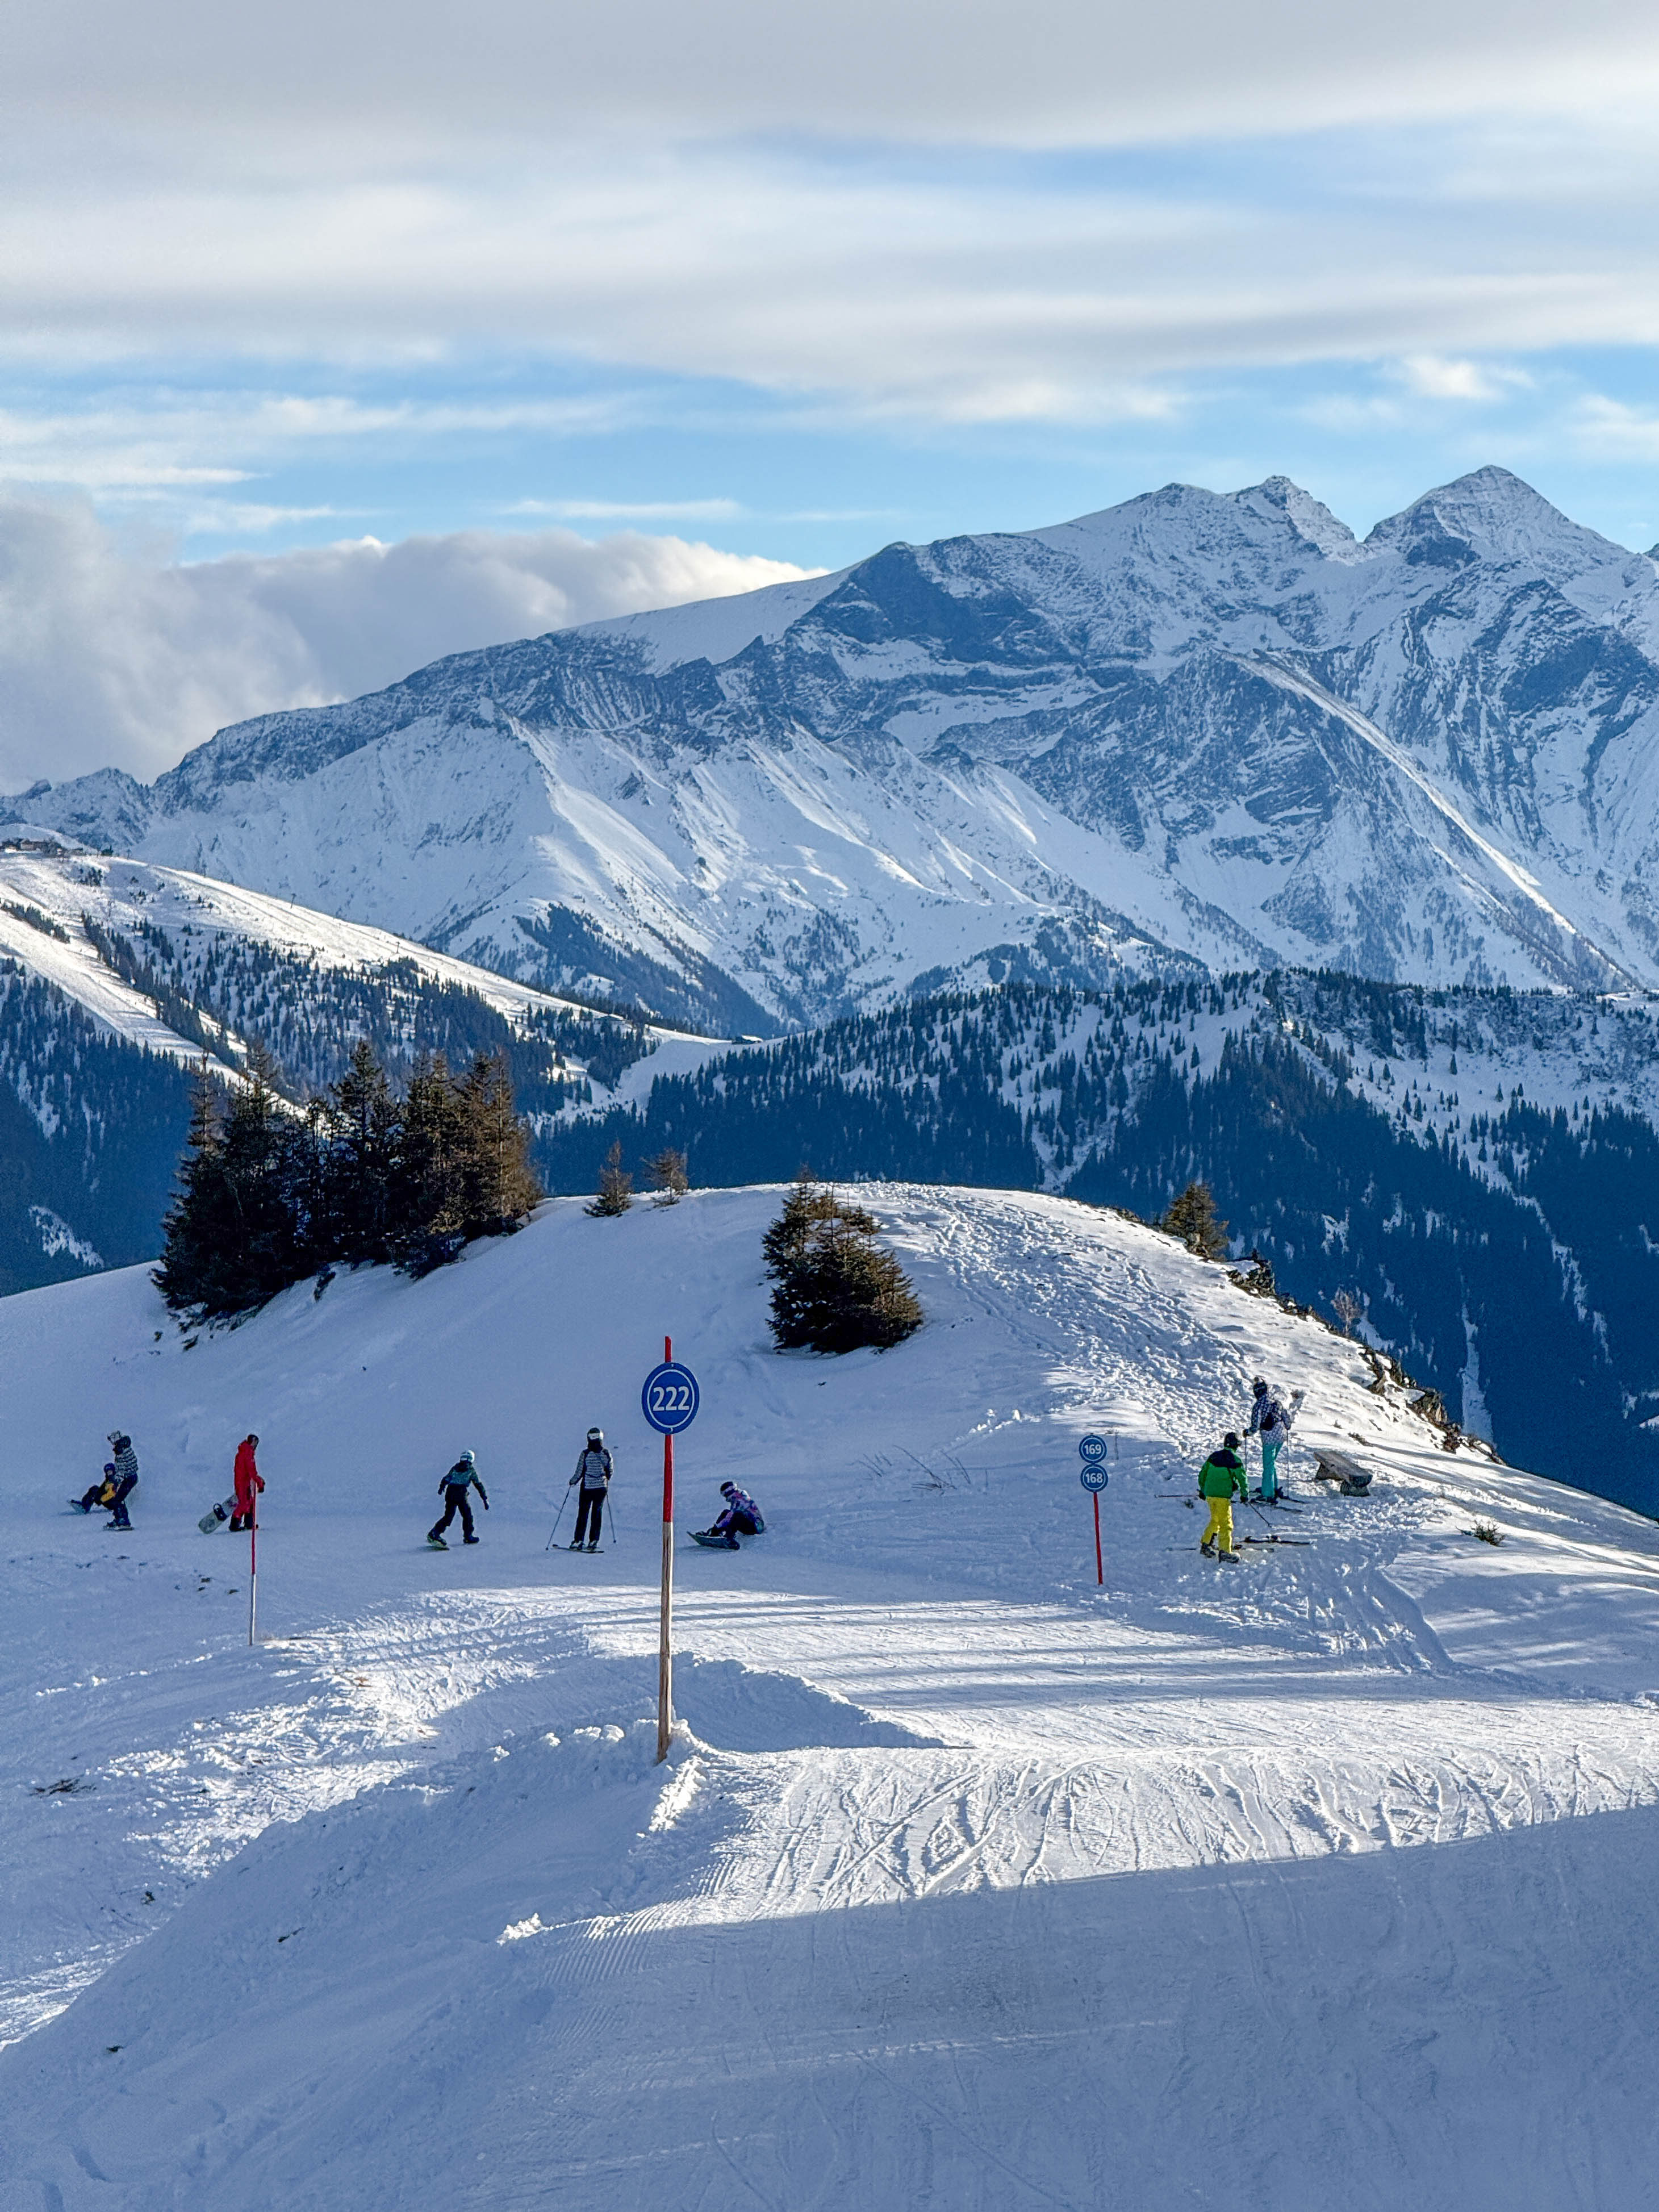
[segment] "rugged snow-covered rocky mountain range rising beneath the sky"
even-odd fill
[[[1659,984],[1659,566],[1283,478],[469,653],[15,821],[670,1020],[1121,962]]]

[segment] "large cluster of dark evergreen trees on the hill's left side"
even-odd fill
[[[175,1312],[226,1318],[327,1265],[425,1274],[540,1197],[500,1053],[460,1075],[422,1057],[398,1091],[361,1040],[301,1115],[254,1051],[230,1093],[204,1068],[155,1281]]]

